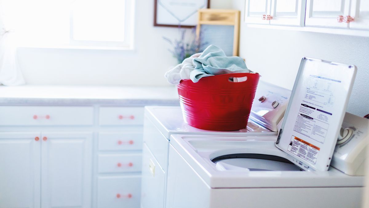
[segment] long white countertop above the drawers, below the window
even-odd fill
[[[0,86],[0,104],[178,105],[176,87]]]

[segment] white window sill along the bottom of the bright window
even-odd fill
[[[51,49],[83,49],[83,50],[122,50],[134,51],[133,47],[113,47],[113,46],[52,46],[52,45],[18,45],[18,48],[51,48]]]

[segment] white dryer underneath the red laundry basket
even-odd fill
[[[291,91],[260,81],[248,126],[238,131],[208,131],[186,124],[180,107],[146,106],[141,207],[164,207],[169,140],[172,134],[263,135],[275,141]]]

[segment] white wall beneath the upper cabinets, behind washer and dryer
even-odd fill
[[[348,112],[369,113],[369,38],[303,31],[249,28],[244,23],[244,0],[233,0],[241,10],[240,56],[261,80],[292,89],[303,56],[353,64],[358,73]]]

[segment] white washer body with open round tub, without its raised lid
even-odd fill
[[[166,207],[361,207],[369,120],[346,113],[328,171],[303,171],[269,138],[172,135]],[[351,174],[351,175],[349,175]]]

